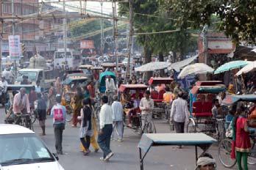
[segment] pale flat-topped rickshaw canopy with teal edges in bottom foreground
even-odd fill
[[[203,153],[216,142],[216,139],[205,135],[205,133],[144,133],[141,141],[138,144],[140,153],[141,170],[144,169],[143,160],[151,147],[160,146],[195,146],[196,160],[198,159],[198,148],[203,150]],[[142,155],[142,151],[144,154]]]

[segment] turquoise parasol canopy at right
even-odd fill
[[[238,61],[232,61],[232,62],[227,62],[225,64],[222,64],[220,67],[218,67],[214,74],[218,74],[218,73],[223,73],[226,72],[228,70],[232,70],[235,68],[240,68],[240,67],[244,67],[247,64],[249,64],[250,62],[247,61],[243,61],[243,60],[238,60]]]

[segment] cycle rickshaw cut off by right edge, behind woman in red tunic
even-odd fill
[[[232,106],[238,102],[244,102],[246,103],[246,106],[249,106],[249,102],[255,102],[255,101],[256,101],[256,95],[228,95],[224,99],[223,103],[227,106]],[[250,132],[252,148],[251,148],[251,152],[249,153],[247,162],[249,163],[249,165],[255,165],[256,164],[256,145],[255,145],[256,144],[256,128],[249,127],[249,132]],[[221,142],[218,144],[218,158],[221,161],[222,165],[227,168],[232,168],[236,164],[236,160],[230,157],[231,151],[232,151],[232,135],[230,135],[230,133],[226,133],[226,138],[221,140]]]

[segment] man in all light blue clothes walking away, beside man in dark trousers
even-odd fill
[[[113,110],[113,134],[112,137],[115,139],[115,136],[118,136],[118,141],[123,141],[123,133],[124,133],[124,123],[123,123],[123,106],[121,102],[118,101],[118,97],[115,95],[113,97],[114,102],[112,103]]]

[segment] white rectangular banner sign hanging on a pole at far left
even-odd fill
[[[21,41],[19,35],[9,35],[9,55],[12,59],[19,59],[21,56]]]

